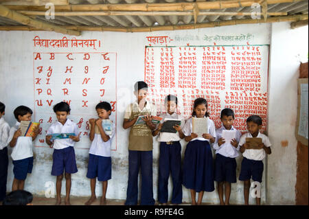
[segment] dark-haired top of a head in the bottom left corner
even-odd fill
[[[33,196],[25,190],[10,192],[3,200],[2,205],[27,205],[32,203]]]

